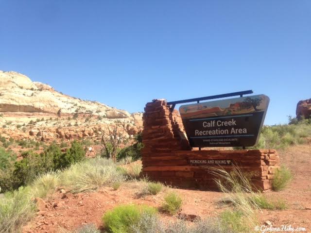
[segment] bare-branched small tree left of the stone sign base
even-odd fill
[[[102,144],[104,154],[112,159],[117,160],[117,154],[120,150],[120,144],[124,139],[125,126],[124,123],[116,121],[113,126],[107,124],[107,132],[102,131]]]

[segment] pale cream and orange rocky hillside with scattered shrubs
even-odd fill
[[[141,117],[141,113],[64,95],[14,71],[0,71],[0,134],[6,138],[98,140],[101,131],[117,120],[131,137],[140,131]]]

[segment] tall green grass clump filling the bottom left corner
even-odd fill
[[[35,215],[32,198],[29,187],[5,193],[4,198],[0,199],[0,233],[19,232],[21,226]]]

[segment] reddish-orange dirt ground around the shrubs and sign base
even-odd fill
[[[260,224],[269,220],[274,227],[291,225],[305,227],[311,232],[311,145],[299,145],[279,152],[281,164],[294,173],[294,180],[283,191],[269,191],[265,195],[274,200],[286,200],[287,210],[263,210],[259,213]],[[139,197],[141,183],[121,185],[118,190],[103,187],[96,192],[64,194],[57,191],[46,200],[46,210],[39,211],[33,221],[23,228],[23,233],[58,233],[62,229],[73,230],[84,224],[95,223],[102,227],[101,217],[105,211],[120,203],[139,203],[159,207],[168,188],[156,196]],[[218,201],[221,192],[174,189],[183,198],[183,209],[201,217],[217,216],[225,210]],[[175,216],[161,213],[161,218],[173,220]]]

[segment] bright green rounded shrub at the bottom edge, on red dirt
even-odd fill
[[[111,233],[131,233],[143,215],[155,216],[156,209],[147,205],[119,205],[103,216],[105,228]]]

